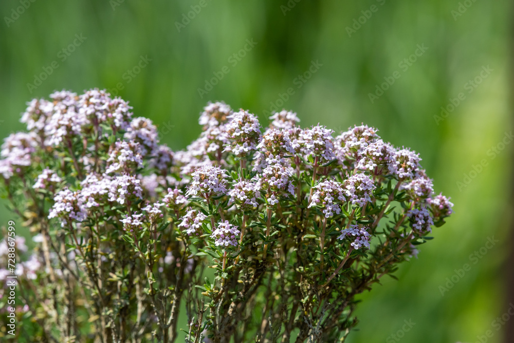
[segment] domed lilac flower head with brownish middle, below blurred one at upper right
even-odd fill
[[[381,139],[370,143],[357,163],[360,170],[368,170],[376,176],[394,174],[396,171],[395,150]]]

